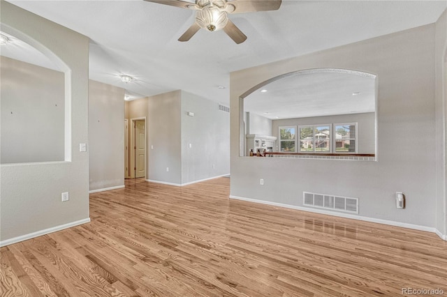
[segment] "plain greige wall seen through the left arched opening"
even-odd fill
[[[1,56],[1,163],[64,160],[64,73]]]

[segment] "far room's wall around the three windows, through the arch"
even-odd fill
[[[328,123],[357,123],[357,153],[375,153],[376,124],[374,112],[365,114],[342,114],[338,116],[314,116],[310,118],[274,120],[272,135],[278,137],[279,139],[280,126]]]

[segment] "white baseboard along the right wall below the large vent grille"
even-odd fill
[[[396,221],[390,221],[390,220],[368,218],[368,217],[363,217],[361,215],[350,215],[349,213],[335,213],[332,211],[324,211],[324,210],[316,209],[316,208],[307,208],[307,207],[302,207],[302,206],[295,206],[295,205],[282,204],[282,203],[277,203],[277,202],[272,202],[272,201],[264,201],[264,200],[258,200],[258,199],[238,197],[238,196],[233,196],[233,195],[230,195],[230,199],[237,199],[237,200],[255,202],[255,203],[260,203],[260,204],[268,204],[268,205],[279,206],[279,207],[284,207],[284,208],[292,208],[292,209],[297,209],[298,211],[308,211],[310,213],[320,213],[322,215],[333,215],[335,217],[348,218],[348,219],[353,219],[353,220],[361,220],[361,221],[365,221],[365,222],[388,224],[390,226],[403,227],[403,228],[414,229],[414,230],[419,230],[419,231],[427,231],[427,232],[436,233],[439,237],[441,237],[441,239],[443,239],[444,241],[447,241],[447,236],[441,234],[441,232],[438,231],[436,228],[420,226],[418,224],[408,224],[408,223],[404,223],[404,222],[396,222]]]

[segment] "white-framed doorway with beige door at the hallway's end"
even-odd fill
[[[145,178],[146,118],[131,119],[131,142],[131,178]]]

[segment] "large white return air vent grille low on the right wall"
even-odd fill
[[[358,213],[358,198],[342,197],[336,195],[302,192],[304,206],[342,211],[344,213]]]

